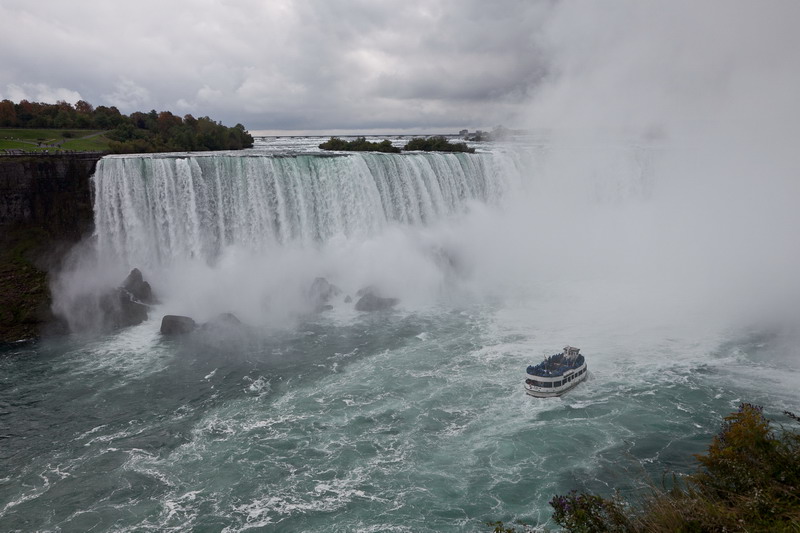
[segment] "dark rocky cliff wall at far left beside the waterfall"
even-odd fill
[[[53,324],[48,271],[92,229],[102,154],[0,156],[0,344]]]

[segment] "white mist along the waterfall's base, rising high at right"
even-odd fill
[[[790,2],[559,3],[537,40],[548,74],[524,114],[544,133],[502,202],[149,272],[124,261],[101,276],[76,268],[60,286],[140,266],[164,312],[272,324],[308,311],[317,276],[343,294],[379,285],[406,309],[521,301],[618,328],[795,320],[799,12]]]

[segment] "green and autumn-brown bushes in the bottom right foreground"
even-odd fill
[[[553,520],[586,533],[800,531],[800,433],[783,426],[775,431],[761,407],[744,403],[725,417],[708,452],[696,457],[700,467],[684,486],[654,489],[637,503],[572,491],[550,501]],[[489,525],[495,532],[516,531],[501,522]]]

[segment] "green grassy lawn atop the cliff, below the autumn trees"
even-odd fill
[[[108,151],[109,140],[104,134],[103,130],[0,128],[0,153],[8,149],[26,152],[105,152]]]

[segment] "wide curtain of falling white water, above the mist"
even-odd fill
[[[94,175],[97,246],[155,266],[367,237],[495,204],[519,174],[501,153],[110,156]]]

